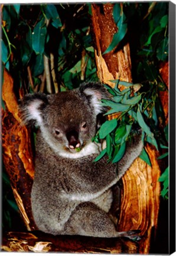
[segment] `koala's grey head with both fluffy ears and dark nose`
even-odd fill
[[[97,115],[106,110],[100,100],[109,97],[102,84],[89,82],[58,94],[25,95],[19,108],[24,123],[35,122],[55,152],[77,153],[92,141]]]

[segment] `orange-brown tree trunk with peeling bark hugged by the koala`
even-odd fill
[[[92,5],[97,75],[101,82],[111,87],[114,84],[109,80],[132,82],[128,43],[119,50],[112,50],[103,55],[117,31],[112,11],[113,4]],[[151,145],[146,145],[146,151],[151,159],[152,168],[137,158],[122,178],[123,191],[118,220],[118,231],[141,230],[143,238],[138,242],[138,251],[141,254],[149,253],[151,231],[157,228],[160,194],[158,152]]]

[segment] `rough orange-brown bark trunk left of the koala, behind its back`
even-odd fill
[[[4,70],[2,99],[2,156],[8,172],[15,200],[28,231],[35,229],[31,212],[31,186],[34,178],[34,162],[30,130],[21,125],[18,102],[14,94],[14,81]]]

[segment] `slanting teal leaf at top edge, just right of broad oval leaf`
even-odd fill
[[[46,14],[48,20],[50,20],[50,19],[53,20],[51,24],[54,27],[58,28],[58,27],[62,26],[57,9],[53,4],[47,4],[47,6],[45,8],[45,14]]]

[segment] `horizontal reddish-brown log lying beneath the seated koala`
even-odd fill
[[[8,252],[137,253],[136,242],[125,238],[53,236],[42,232],[6,232],[2,249]]]

